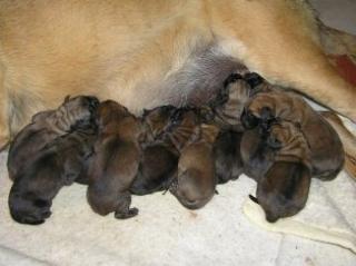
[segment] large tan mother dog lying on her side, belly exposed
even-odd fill
[[[356,89],[324,53],[334,37],[356,53],[303,0],[0,0],[0,146],[66,95],[136,112],[205,100],[237,60],[356,121]]]

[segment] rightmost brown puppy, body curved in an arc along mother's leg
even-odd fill
[[[332,180],[343,169],[345,152],[333,127],[299,96],[278,90],[266,81],[269,92],[259,92],[247,104],[241,120],[245,127],[257,122],[268,127],[277,120],[291,121],[300,127],[312,150],[312,176]],[[258,89],[258,86],[256,87]]]

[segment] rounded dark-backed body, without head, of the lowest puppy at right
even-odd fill
[[[277,161],[257,185],[257,201],[269,223],[300,211],[308,198],[310,171],[300,162]]]

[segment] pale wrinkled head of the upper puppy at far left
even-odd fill
[[[99,100],[92,96],[66,97],[63,104],[56,110],[53,125],[69,131],[78,125],[92,122]],[[40,116],[42,117],[42,116]]]

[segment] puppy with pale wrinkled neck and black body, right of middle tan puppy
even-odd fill
[[[245,105],[253,97],[255,83],[260,81],[254,73],[233,73],[224,82],[209,106],[214,122],[220,128],[214,145],[215,169],[219,184],[234,180],[243,174],[240,141],[244,127],[240,117]]]

